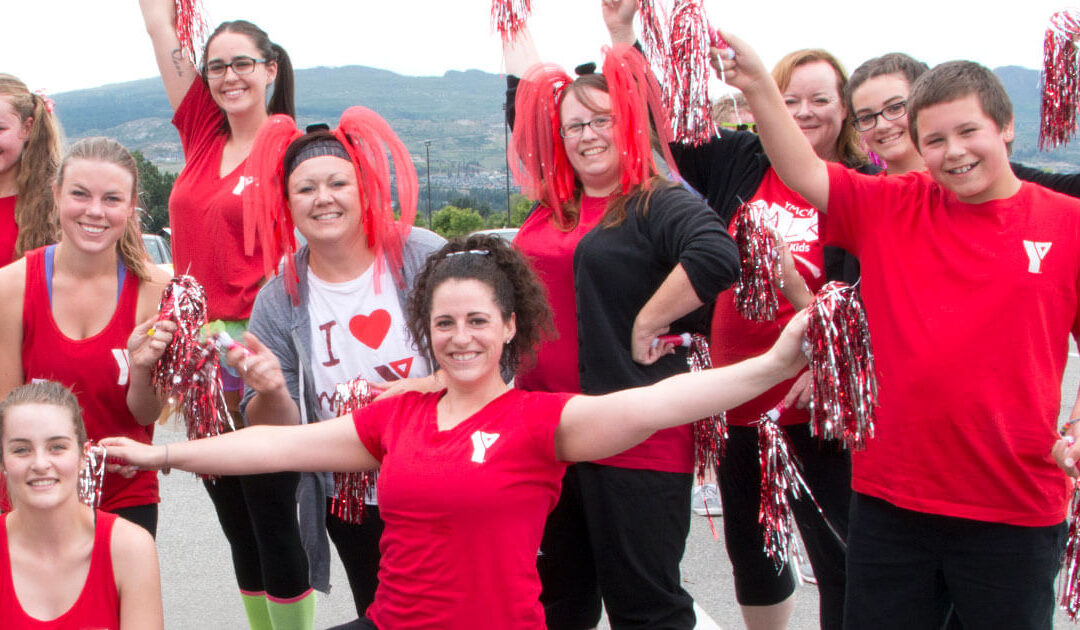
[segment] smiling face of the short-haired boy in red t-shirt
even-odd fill
[[[1007,148],[1013,123],[999,128],[976,95],[923,108],[918,125],[919,150],[930,174],[960,201],[983,203],[1015,192]]]

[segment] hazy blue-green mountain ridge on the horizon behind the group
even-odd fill
[[[995,70],[1013,100],[1016,142],[1013,158],[1059,171],[1080,169],[1080,143],[1038,151],[1039,72],[1017,66]],[[404,77],[364,66],[298,70],[297,109],[301,124],[337,123],[350,105],[379,112],[405,142],[420,177],[424,140],[431,140],[431,175],[438,185],[499,187],[504,170],[502,102],[505,82],[480,70],[442,77]],[[144,79],[55,95],[69,137],[108,135],[139,149],[160,166],[183,164],[179,138],[160,80]]]

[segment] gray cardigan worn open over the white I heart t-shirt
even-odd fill
[[[423,267],[428,256],[443,246],[443,237],[423,228],[414,227],[402,251],[405,285],[413,286],[416,274]],[[285,291],[285,280],[275,276],[259,290],[252,309],[248,331],[252,332],[278,357],[288,394],[300,411],[303,424],[319,420],[315,414],[314,383],[311,373],[311,322],[308,317],[308,246],[296,253],[296,271],[299,276],[299,305]],[[402,310],[405,310],[406,292],[394,285]],[[241,411],[246,412],[247,403],[255,396],[249,387],[244,388]],[[300,401],[303,401],[300,404]],[[332,473],[303,473],[296,498],[300,513],[300,537],[308,554],[312,588],[329,591],[329,542],[326,536],[326,497],[334,496]]]

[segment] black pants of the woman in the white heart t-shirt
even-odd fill
[[[345,565],[352,601],[356,604],[356,616],[363,619],[364,612],[375,599],[375,589],[379,586],[379,560],[382,557],[379,552],[379,538],[382,537],[384,525],[379,518],[378,506],[364,506],[364,520],[354,525],[330,512],[332,500],[326,499],[326,533]]]

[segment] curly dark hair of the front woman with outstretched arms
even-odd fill
[[[536,273],[507,241],[488,236],[454,239],[428,257],[408,296],[405,314],[417,349],[435,364],[431,349],[431,299],[447,280],[478,280],[495,292],[503,320],[516,316],[517,333],[503,346],[499,367],[513,373],[536,359],[540,340],[554,334],[548,295]]]

